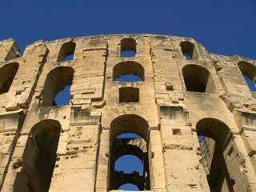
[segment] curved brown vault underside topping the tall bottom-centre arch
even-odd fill
[[[147,142],[149,124],[144,118],[137,114],[124,114],[115,118],[111,124],[112,138],[116,138],[119,134],[134,133],[138,134]]]

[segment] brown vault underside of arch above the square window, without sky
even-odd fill
[[[113,81],[116,81],[116,78],[126,74],[134,74],[144,81],[144,67],[138,62],[119,62],[115,65],[113,68]]]

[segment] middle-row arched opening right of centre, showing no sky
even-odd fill
[[[214,93],[215,86],[209,70],[198,65],[186,65],[182,74],[187,91]]]

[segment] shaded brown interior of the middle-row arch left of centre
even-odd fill
[[[51,70],[47,74],[44,89],[42,90],[42,104],[41,106],[56,106],[54,101],[56,95],[66,88],[66,98],[70,98],[70,92],[67,92],[69,87],[73,82],[74,70],[69,66],[60,66]],[[66,101],[65,103],[69,103]]]

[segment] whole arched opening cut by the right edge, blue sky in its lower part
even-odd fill
[[[247,85],[250,90],[256,91],[256,66],[249,62],[238,62],[238,67],[241,70]]]

